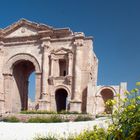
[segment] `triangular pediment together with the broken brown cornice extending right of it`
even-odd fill
[[[53,28],[26,19],[21,19],[4,29],[0,29],[0,39],[7,45],[30,43],[39,39],[43,41],[46,37],[55,40],[71,39],[72,35],[73,33],[69,28]]]

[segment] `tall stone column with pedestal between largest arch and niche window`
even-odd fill
[[[50,110],[50,94],[48,88],[48,77],[49,77],[49,48],[50,41],[44,41],[42,44],[43,56],[42,56],[42,94],[39,109]]]

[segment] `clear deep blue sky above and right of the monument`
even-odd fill
[[[0,2],[0,28],[26,18],[93,36],[94,51],[99,59],[98,85],[116,85],[122,81],[128,82],[131,89],[140,81],[139,0]]]

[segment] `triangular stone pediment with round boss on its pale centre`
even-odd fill
[[[37,24],[22,19],[14,23],[13,25],[3,29],[3,35],[6,38],[25,37],[37,35],[38,32],[41,31],[51,31],[51,30],[52,28],[47,25]]]

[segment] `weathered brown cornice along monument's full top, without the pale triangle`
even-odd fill
[[[28,32],[27,34],[23,33],[23,36],[18,36],[18,34],[16,36],[9,36],[11,33],[22,27],[27,27],[27,29],[35,30],[36,32],[35,34],[29,35]],[[4,29],[0,29],[0,41],[2,41],[4,44],[27,44],[27,42],[31,43],[35,40],[45,41],[48,37],[50,37],[51,42],[91,39],[91,37],[86,38],[81,32],[72,32],[69,28],[53,28],[48,25],[28,21],[26,19],[21,19]]]

